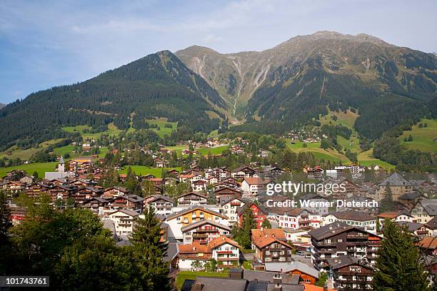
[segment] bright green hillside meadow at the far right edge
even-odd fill
[[[419,128],[419,123],[417,123],[411,131],[404,131],[399,140],[407,148],[435,153],[437,151],[437,141],[434,141],[434,138],[437,138],[437,120],[422,119],[420,123],[426,123],[428,126]],[[413,137],[413,141],[403,141],[404,138],[408,138],[410,135]]]

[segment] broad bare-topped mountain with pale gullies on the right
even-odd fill
[[[311,123],[328,109],[355,108],[356,130],[373,140],[437,117],[436,55],[366,34],[319,31],[260,52],[191,46],[175,54],[220,93],[233,116],[264,121],[273,131]]]

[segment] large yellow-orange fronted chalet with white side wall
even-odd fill
[[[211,220],[214,223],[228,225],[228,218],[225,215],[198,205],[167,216],[166,223],[174,234],[174,238],[176,238],[176,240],[182,240],[184,235],[182,234],[181,228],[201,220]]]

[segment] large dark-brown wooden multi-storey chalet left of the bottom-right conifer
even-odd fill
[[[311,230],[308,235],[311,235],[311,260],[323,272],[329,272],[329,262],[342,255],[375,265],[382,241],[378,235],[340,221]]]

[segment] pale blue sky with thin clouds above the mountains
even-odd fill
[[[328,30],[437,52],[436,15],[436,0],[1,0],[0,103],[194,44],[262,51]]]

